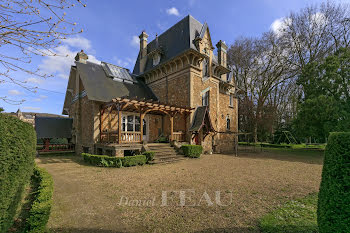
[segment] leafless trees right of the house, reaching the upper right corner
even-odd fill
[[[286,17],[278,30],[260,38],[239,38],[230,47],[238,92],[240,130],[270,131],[295,117],[302,89],[297,79],[310,62],[350,43],[346,4],[310,6]]]

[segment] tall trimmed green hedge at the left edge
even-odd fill
[[[36,135],[32,125],[4,114],[0,132],[0,232],[6,232],[33,174]]]

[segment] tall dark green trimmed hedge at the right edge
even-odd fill
[[[318,195],[320,233],[350,232],[350,132],[331,133]]]

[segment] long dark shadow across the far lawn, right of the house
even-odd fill
[[[274,159],[307,164],[323,164],[323,151],[266,150],[262,152],[238,152],[238,157],[251,159]]]

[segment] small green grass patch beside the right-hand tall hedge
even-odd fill
[[[259,227],[264,233],[313,233],[317,228],[317,193],[289,201],[263,216]]]

